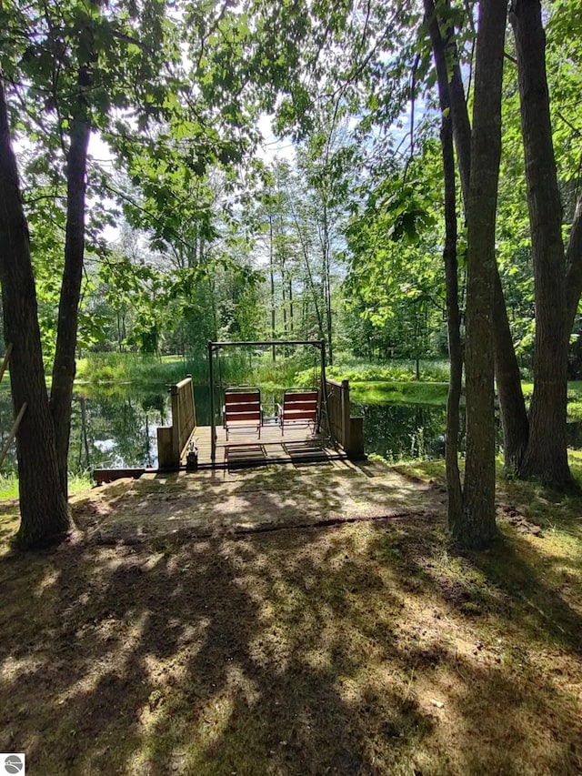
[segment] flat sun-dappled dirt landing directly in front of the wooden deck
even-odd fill
[[[436,513],[443,494],[374,461],[199,471],[124,479],[73,497],[94,539],[206,537]]]

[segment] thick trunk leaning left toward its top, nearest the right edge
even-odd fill
[[[514,0],[510,18],[517,45],[536,295],[534,393],[529,410],[529,439],[519,473],[561,487],[571,481],[566,432],[566,260],[549,116],[546,37],[539,0]]]

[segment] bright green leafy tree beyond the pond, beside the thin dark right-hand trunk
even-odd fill
[[[366,198],[346,229],[349,304],[374,324],[385,356],[415,359],[417,373],[419,359],[434,351],[431,334],[444,311],[437,151],[428,138],[406,172],[396,166],[381,182],[364,181]]]

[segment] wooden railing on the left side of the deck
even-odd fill
[[[196,428],[196,405],[192,378],[170,388],[172,425],[157,428],[157,458],[160,469],[178,469],[185,457],[186,445]]]

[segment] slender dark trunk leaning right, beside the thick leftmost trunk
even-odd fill
[[[51,412],[55,421],[56,458],[65,498],[71,433],[71,402],[75,381],[77,321],[85,252],[85,176],[90,134],[89,122],[85,118],[73,120],[66,170],[65,269],[58,308],[50,399]]]

